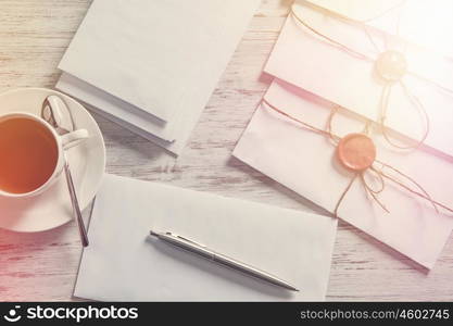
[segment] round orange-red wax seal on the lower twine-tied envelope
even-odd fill
[[[344,167],[361,172],[375,162],[376,147],[366,135],[349,134],[338,143],[337,154],[338,160]]]

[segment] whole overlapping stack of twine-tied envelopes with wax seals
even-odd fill
[[[451,7],[295,1],[234,154],[431,268],[453,228],[453,52],[411,28],[428,2]]]

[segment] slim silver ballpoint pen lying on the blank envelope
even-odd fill
[[[171,243],[175,247],[181,248],[189,252],[196,253],[202,258],[205,258],[210,261],[217,262],[224,266],[231,267],[236,271],[242,272],[249,276],[256,277],[263,280],[266,280],[273,285],[282,287],[285,289],[289,289],[292,291],[299,291],[295,287],[290,285],[289,283],[272,275],[266,272],[263,272],[259,268],[252,267],[248,264],[234,260],[229,256],[224,254],[217,253],[205,246],[199,244],[192,240],[186,239],[181,236],[174,235],[172,233],[155,233],[153,230],[150,231],[151,236],[156,237],[158,239]]]

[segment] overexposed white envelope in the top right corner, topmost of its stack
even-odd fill
[[[307,1],[453,58],[451,0]]]

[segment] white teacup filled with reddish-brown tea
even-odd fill
[[[35,134],[38,137],[33,137]],[[49,123],[29,113],[0,115],[0,196],[25,198],[46,191],[63,171],[64,151],[88,137],[86,129],[58,135]],[[48,153],[40,152],[40,149],[47,148]],[[30,155],[27,155],[28,151]],[[28,160],[14,162],[20,158]]]

